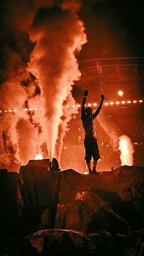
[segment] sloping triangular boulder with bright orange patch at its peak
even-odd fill
[[[103,199],[90,191],[77,193],[70,203],[57,207],[55,228],[73,229],[84,233],[107,230],[110,233],[128,233],[129,225]]]

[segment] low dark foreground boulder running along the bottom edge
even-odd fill
[[[0,240],[0,251],[1,256],[142,256],[143,235],[143,230],[127,236],[105,230],[88,235],[74,230],[40,230],[21,239]]]

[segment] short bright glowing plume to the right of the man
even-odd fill
[[[132,166],[133,164],[133,153],[134,153],[134,147],[131,142],[131,139],[126,136],[120,136],[119,137],[119,147],[118,149],[120,150],[120,159],[121,159],[121,165],[127,165],[127,166]]]

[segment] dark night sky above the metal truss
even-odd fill
[[[88,38],[81,59],[142,57],[142,1],[84,1],[81,9]]]

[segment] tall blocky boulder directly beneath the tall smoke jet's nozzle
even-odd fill
[[[21,212],[23,221],[40,225],[40,229],[52,229],[58,203],[60,174],[48,170],[45,165],[27,164],[20,167],[20,177],[25,203]]]

